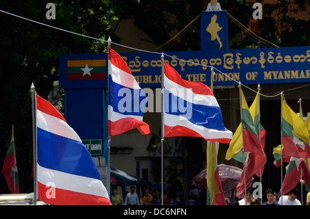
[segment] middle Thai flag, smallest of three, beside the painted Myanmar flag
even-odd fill
[[[149,125],[143,122],[147,96],[132,76],[125,61],[109,48],[109,136],[138,128],[141,134],[149,134]]]

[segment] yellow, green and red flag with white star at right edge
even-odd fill
[[[283,156],[309,158],[309,130],[304,121],[285,102],[282,96]]]

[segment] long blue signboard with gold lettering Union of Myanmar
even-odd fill
[[[117,52],[117,51],[116,51]],[[141,87],[161,87],[161,54],[149,52],[120,53]],[[242,50],[199,50],[165,52],[165,61],[189,81],[210,85],[214,67],[214,85],[245,85],[310,82],[310,46]],[[107,54],[72,54],[60,56],[60,85],[63,88],[105,88],[107,79],[69,79],[69,60],[106,60]],[[85,64],[85,63],[84,63]],[[84,65],[83,64],[83,65]],[[87,68],[88,67],[88,68]],[[95,69],[88,64],[83,70]],[[83,71],[82,70],[82,71]],[[86,75],[87,74],[87,75]]]

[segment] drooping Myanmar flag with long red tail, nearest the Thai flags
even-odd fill
[[[250,152],[247,157],[247,163],[242,171],[240,182],[238,183],[237,197],[240,198],[245,193],[245,181],[246,188],[251,185],[251,177],[259,175],[260,169],[264,168],[266,163],[266,155],[258,136],[258,130],[254,125],[253,118],[249,112],[245,95],[240,87],[241,96],[241,114],[242,114],[242,137],[243,137],[243,148],[245,152]]]

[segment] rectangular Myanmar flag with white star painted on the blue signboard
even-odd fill
[[[68,60],[68,80],[105,79],[107,66],[105,59]]]

